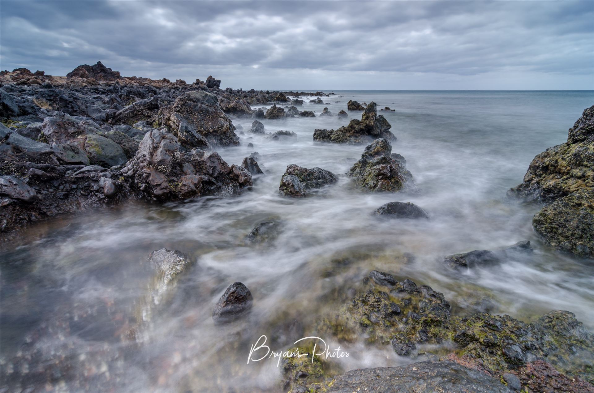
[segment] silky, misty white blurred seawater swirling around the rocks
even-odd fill
[[[319,115],[327,106],[336,115],[350,99],[395,109],[378,114],[391,123],[397,137],[393,152],[406,158],[419,194],[357,191],[344,174],[365,146],[312,141],[314,129],[338,128],[361,112],[349,112],[347,119],[263,119],[266,132],[297,134],[282,140],[249,134],[252,120],[234,119],[242,126],[242,143],[219,153],[229,164],[241,164],[258,152],[265,174],[255,178],[251,191],[56,218],[32,226],[20,246],[2,254],[0,359],[8,362],[24,341],[34,346],[39,340],[51,352],[67,340],[70,351],[87,358],[115,353],[105,364],[119,391],[276,390],[276,362],[245,364],[250,344],[295,320],[304,327],[299,334],[311,335],[308,328],[374,268],[443,292],[456,313],[476,312],[472,303],[488,296],[492,313],[528,321],[549,310],[570,310],[594,328],[592,260],[552,251],[530,224],[538,207],[505,199],[536,154],[567,139],[567,129],[594,102],[593,91],[334,93],[321,97],[327,105],[309,104],[315,97],[303,96],[306,103],[299,109]],[[330,170],[339,183],[309,198],[285,198],[278,186],[288,164]],[[391,201],[413,202],[431,219],[372,217],[375,208]],[[270,217],[283,220],[280,236],[266,247],[244,246],[255,224]],[[440,262],[451,253],[519,240],[532,242],[532,256],[457,275]],[[168,308],[142,328],[143,343],[129,346],[121,334],[134,326],[138,299],[146,296],[153,274],[144,261],[162,247],[187,252],[197,263],[173,289]],[[350,263],[336,264],[344,256]],[[215,327],[212,307],[234,281],[252,291],[254,311],[242,322]],[[88,318],[72,322],[72,308],[87,310]],[[70,321],[67,331],[40,329],[60,325],[61,319]],[[41,333],[32,339],[32,331]],[[100,344],[102,351],[93,351],[91,344]],[[349,358],[341,361],[344,370],[410,362],[390,348],[356,343],[349,349]],[[116,378],[117,370],[127,378]],[[83,378],[81,373],[56,381],[68,387],[70,379]]]

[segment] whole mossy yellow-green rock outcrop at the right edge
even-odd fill
[[[569,129],[567,142],[530,163],[524,182],[507,195],[548,206],[532,225],[552,247],[586,258],[594,255],[594,105]]]

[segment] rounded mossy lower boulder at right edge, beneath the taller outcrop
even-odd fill
[[[558,198],[535,214],[532,226],[555,249],[594,257],[594,189]]]

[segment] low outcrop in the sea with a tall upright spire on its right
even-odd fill
[[[365,108],[361,121],[353,119],[349,125],[336,130],[316,129],[314,131],[314,141],[350,144],[364,143],[375,138],[394,141],[396,137],[390,132],[391,127],[384,116],[377,116],[377,107],[374,102],[371,102]]]

